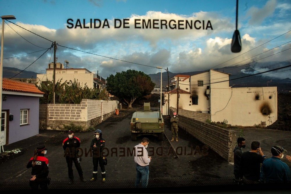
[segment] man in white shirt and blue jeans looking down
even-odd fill
[[[135,187],[139,186],[146,188],[148,186],[148,165],[152,160],[152,157],[148,156],[148,151],[145,149],[148,147],[149,139],[144,137],[139,145],[134,146],[134,162],[136,163],[136,180]]]

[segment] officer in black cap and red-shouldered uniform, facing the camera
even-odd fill
[[[73,162],[77,168],[80,180],[82,182],[86,182],[83,177],[83,171],[80,165],[80,157],[78,157],[79,150],[77,149],[80,147],[80,139],[74,136],[74,131],[68,131],[68,137],[63,140],[63,149],[65,150],[66,162],[68,164],[68,174],[69,174],[69,184],[74,183],[74,175],[73,175]]]

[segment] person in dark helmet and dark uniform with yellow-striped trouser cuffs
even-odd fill
[[[102,175],[102,182],[105,182],[106,173],[105,167],[103,163],[103,149],[105,147],[105,140],[102,138],[102,131],[97,129],[94,132],[94,139],[91,141],[90,147],[92,148],[93,152],[93,177],[90,181],[95,181],[97,179],[97,169],[98,169],[98,162],[101,168],[101,175]]]

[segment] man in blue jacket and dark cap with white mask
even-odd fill
[[[265,159],[261,168],[260,182],[266,184],[272,183],[290,183],[290,168],[281,159],[286,152],[283,147],[276,145],[271,148],[272,158]]]

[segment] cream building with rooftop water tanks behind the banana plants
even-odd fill
[[[45,74],[37,74],[37,83],[41,81],[53,81],[54,63],[49,63]],[[56,82],[61,80],[61,83],[70,81],[78,81],[82,87],[85,84],[88,88],[105,88],[105,79],[98,74],[93,74],[85,68],[64,68],[62,63],[56,63]]]

